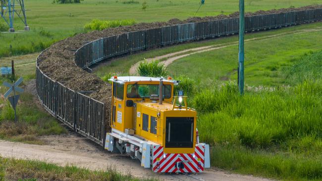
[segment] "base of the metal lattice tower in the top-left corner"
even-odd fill
[[[1,17],[9,26],[9,32],[14,32],[13,20],[16,14],[19,19],[25,24],[24,30],[29,31],[27,25],[26,9],[24,0],[0,0],[1,2]]]

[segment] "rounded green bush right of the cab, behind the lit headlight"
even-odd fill
[[[175,80],[179,81],[177,86],[174,86],[174,93],[178,93],[179,90],[183,90],[184,95],[192,96],[196,91],[196,82],[190,79],[188,76],[180,75]]]

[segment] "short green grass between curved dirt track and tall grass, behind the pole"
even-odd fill
[[[246,39],[250,39],[248,36]],[[322,30],[319,30],[245,42],[245,84],[288,84],[280,73],[282,68],[304,53],[320,49],[321,42],[315,40],[321,38]],[[190,78],[201,84],[237,80],[237,62],[238,44],[181,58],[168,66],[168,72],[170,75],[191,75]]]

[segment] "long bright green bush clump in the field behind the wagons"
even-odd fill
[[[107,28],[115,28],[115,27],[119,27],[119,26],[134,25],[135,23],[136,22],[133,19],[107,20],[107,21],[93,19],[90,23],[85,24],[84,29],[86,31],[104,30]]]

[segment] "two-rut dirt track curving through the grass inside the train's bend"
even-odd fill
[[[309,32],[320,31],[320,30],[322,30],[322,28],[304,29],[304,30],[294,31],[294,32],[291,32],[291,33],[289,33],[289,32],[280,33],[280,34],[276,34],[276,35],[269,35],[269,36],[264,36],[264,37],[248,39],[248,40],[245,40],[245,43],[250,42],[250,41],[270,40],[270,39],[273,39],[273,38],[280,38],[280,37],[287,36],[287,35],[296,35],[296,34],[309,33]],[[205,51],[221,49],[221,48],[234,46],[234,45],[238,45],[238,42],[231,42],[231,43],[218,44],[218,45],[208,45],[208,46],[202,46],[202,47],[197,47],[197,48],[185,49],[185,50],[181,50],[181,51],[177,51],[177,52],[157,56],[157,57],[154,57],[154,58],[147,58],[146,61],[150,63],[150,62],[153,62],[153,61],[156,61],[156,60],[166,58],[166,60],[161,61],[160,64],[164,64],[164,66],[167,67],[168,65],[170,65],[175,60],[178,60],[178,59],[186,57],[186,56],[190,56],[190,55],[193,55],[193,54],[196,54],[196,53],[202,53],[202,52],[205,52]],[[186,53],[186,52],[189,52],[189,53]],[[137,62],[137,63],[135,63],[134,65],[131,66],[130,71],[129,71],[130,75],[136,75],[137,74],[136,69],[140,65],[140,63],[143,62],[143,61],[144,60],[139,61],[139,62]]]

